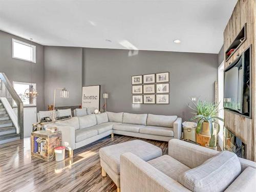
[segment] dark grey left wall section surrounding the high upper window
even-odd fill
[[[30,43],[29,40],[0,31],[0,72],[4,72],[11,82],[31,82],[30,62],[12,58],[12,38]],[[36,63],[32,63],[32,81],[36,83],[38,96],[37,111],[45,110],[44,104],[44,46],[36,46]]]

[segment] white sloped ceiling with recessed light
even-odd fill
[[[0,0],[0,30],[49,46],[218,53],[236,2]]]

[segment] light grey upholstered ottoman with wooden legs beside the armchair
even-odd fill
[[[120,191],[120,155],[126,152],[131,152],[144,161],[162,156],[161,148],[141,140],[127,141],[100,148],[102,177],[105,177],[107,173],[116,184],[117,191]]]

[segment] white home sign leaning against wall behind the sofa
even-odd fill
[[[82,108],[99,110],[100,86],[82,87]]]

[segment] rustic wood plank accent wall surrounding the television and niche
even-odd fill
[[[239,0],[236,7],[232,12],[229,22],[224,31],[224,55],[233,40],[237,37],[238,33],[241,31],[246,23],[246,40],[244,43],[236,50],[227,61],[224,62],[225,68],[227,68],[231,62],[233,62],[242,52],[244,52],[250,45],[252,45],[252,62],[251,62],[251,73],[252,73],[252,119],[246,118],[244,116],[231,113],[229,111],[224,112],[224,126],[240,137],[246,146],[246,158],[249,160],[256,161],[256,69],[255,69],[255,39],[256,32],[255,18],[256,18],[256,8],[255,0]]]

